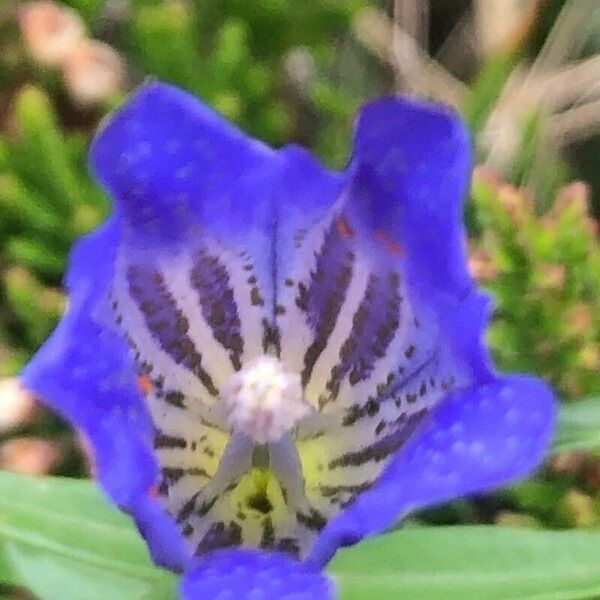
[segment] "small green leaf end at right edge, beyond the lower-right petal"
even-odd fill
[[[600,397],[563,404],[553,452],[600,449]]]

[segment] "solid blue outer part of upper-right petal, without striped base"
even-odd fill
[[[348,173],[350,215],[397,245],[408,287],[434,309],[453,351],[489,379],[482,331],[490,302],[467,269],[462,208],[471,150],[460,117],[423,101],[372,102],[359,116]]]

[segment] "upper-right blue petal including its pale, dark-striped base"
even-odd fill
[[[398,98],[362,110],[344,186],[310,203],[277,272],[289,286],[277,287],[281,358],[319,410],[332,393],[366,402],[405,353],[422,365],[442,345],[491,378],[481,343],[489,302],[464,253],[469,168],[468,136],[451,111]]]

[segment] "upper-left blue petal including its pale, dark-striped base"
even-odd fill
[[[152,83],[111,116],[90,160],[121,224],[113,287],[123,329],[142,360],[158,345],[163,371],[182,365],[171,388],[189,392],[192,371],[210,404],[240,361],[263,352],[276,154],[193,96]],[[140,310],[150,303],[154,320]]]

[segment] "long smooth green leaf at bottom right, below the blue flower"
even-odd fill
[[[341,600],[600,597],[600,533],[415,527],[341,551]]]

